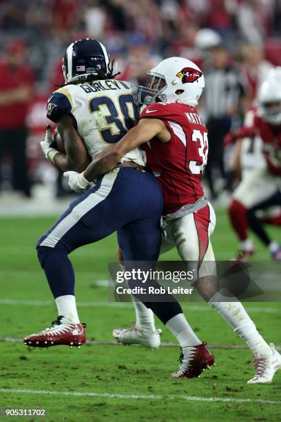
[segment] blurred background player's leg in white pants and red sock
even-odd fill
[[[247,211],[260,202],[260,192],[262,192],[264,199],[268,199],[275,191],[275,182],[272,181],[265,165],[262,165],[251,170],[233,192],[229,205],[229,218],[233,230],[240,240],[235,260],[247,261],[256,250],[248,235]]]

